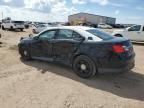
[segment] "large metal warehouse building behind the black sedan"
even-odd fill
[[[84,24],[84,23],[90,23],[90,24],[96,24],[96,25],[100,23],[115,24],[116,18],[81,12],[81,13],[68,16],[68,21],[72,25],[78,25],[78,24]]]

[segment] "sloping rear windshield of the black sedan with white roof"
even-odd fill
[[[99,30],[96,30],[96,29],[90,29],[90,30],[87,30],[87,32],[103,39],[103,40],[109,40],[109,39],[113,39],[114,36],[108,34],[108,33],[105,33],[103,31],[99,31]]]

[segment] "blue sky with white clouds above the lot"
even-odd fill
[[[86,12],[116,18],[116,23],[144,24],[144,0],[0,0],[0,19],[65,22]]]

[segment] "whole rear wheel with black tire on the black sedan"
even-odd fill
[[[73,70],[82,78],[90,78],[96,74],[96,65],[89,57],[81,55],[74,60]]]

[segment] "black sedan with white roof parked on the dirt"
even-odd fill
[[[90,27],[51,27],[37,36],[22,38],[18,47],[24,60],[64,63],[82,78],[134,67],[135,53],[128,39]]]

